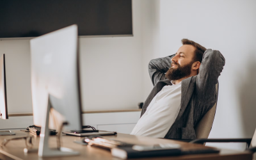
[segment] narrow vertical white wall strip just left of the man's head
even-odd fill
[[[148,62],[159,56],[159,0],[141,0],[142,7],[142,69],[143,69],[143,101],[147,99],[148,94],[153,88],[148,75]]]

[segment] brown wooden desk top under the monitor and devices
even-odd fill
[[[5,138],[14,138],[18,136],[28,136],[33,135],[29,132],[22,132],[22,131],[15,131],[15,136],[0,136],[0,143]],[[164,140],[158,138],[148,138],[148,137],[141,137],[141,136],[132,136],[129,134],[121,134],[118,133],[116,136],[104,136],[104,138],[111,138],[115,140],[121,140],[128,143],[136,143],[136,144],[156,144],[156,143],[178,143],[181,145],[182,149],[188,150],[189,148],[205,148],[203,145],[196,145],[196,144],[189,144],[186,142],[181,141],[174,141],[174,140]],[[39,144],[39,136],[35,136],[34,146],[38,147]],[[74,150],[79,151],[81,154],[80,156],[73,156],[73,157],[51,157],[51,158],[44,158],[44,159],[58,159],[58,160],[77,160],[77,159],[118,159],[116,157],[112,157],[111,153],[108,150],[104,150],[102,148],[90,147],[90,146],[83,146],[77,143],[74,143],[74,140],[80,141],[82,138],[75,137],[75,136],[65,136],[63,135],[62,142],[63,147],[72,148]],[[56,136],[51,136],[50,138],[50,146],[56,147]],[[29,153],[24,154],[23,149],[25,146],[24,140],[13,140],[10,141],[5,147],[0,147],[0,153],[3,154],[0,156],[0,159],[40,159],[37,153]],[[233,150],[221,150],[220,154],[200,154],[200,155],[188,155],[188,156],[173,156],[173,157],[152,157],[152,158],[145,158],[145,159],[218,159],[218,160],[225,160],[225,159],[232,159],[232,160],[251,160],[252,154],[250,152],[239,152]],[[145,160],[141,159],[141,160]],[[133,159],[135,160],[135,159]]]

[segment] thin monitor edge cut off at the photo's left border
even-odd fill
[[[1,119],[8,119],[4,54],[0,58],[0,115]]]

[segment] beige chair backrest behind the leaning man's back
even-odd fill
[[[218,93],[218,83],[216,84],[216,90]],[[214,104],[214,106],[203,116],[203,118],[198,122],[198,124],[195,127],[196,132],[196,139],[200,138],[208,138],[211,129],[212,124],[215,116],[217,102]]]

